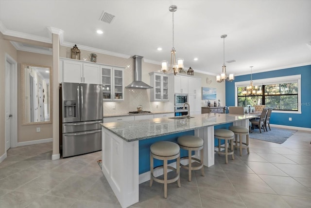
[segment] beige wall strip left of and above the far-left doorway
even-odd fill
[[[5,154],[5,54],[17,60],[16,49],[0,33],[0,157]]]

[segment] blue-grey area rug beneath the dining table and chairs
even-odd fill
[[[295,132],[297,131],[288,130],[288,129],[271,128],[271,131],[264,132],[263,130],[261,130],[261,133],[260,133],[259,129],[255,129],[253,130],[253,132],[249,134],[249,137],[253,139],[259,139],[263,141],[282,144]]]

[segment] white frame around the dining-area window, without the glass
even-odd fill
[[[281,83],[290,83],[297,82],[298,86],[298,111],[285,111],[285,110],[273,110],[274,113],[296,113],[301,114],[301,75],[292,75],[292,76],[280,76],[273,78],[265,79],[253,79],[253,85],[269,85],[269,84],[281,84]],[[235,106],[238,105],[238,87],[245,87],[250,84],[250,80],[235,82],[234,83],[234,103]]]

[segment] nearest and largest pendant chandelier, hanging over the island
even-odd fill
[[[161,70],[163,73],[173,70],[174,75],[177,73],[182,73],[184,69],[184,59],[178,58],[176,61],[176,51],[174,48],[174,12],[177,11],[177,6],[172,5],[169,7],[169,11],[173,13],[173,47],[171,51],[171,65],[168,67],[167,61],[161,62]]]

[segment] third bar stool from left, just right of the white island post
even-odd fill
[[[216,139],[218,139],[218,154],[225,154],[225,164],[228,164],[228,155],[231,155],[232,160],[234,160],[234,151],[233,151],[233,139],[234,139],[234,133],[227,129],[216,129],[214,131],[214,136]],[[225,140],[225,152],[221,152],[221,142],[220,140]],[[230,143],[230,151],[228,151],[228,141]]]

